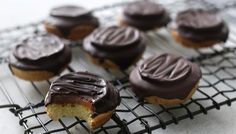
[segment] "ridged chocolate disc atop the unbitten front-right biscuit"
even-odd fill
[[[161,55],[146,60],[139,73],[143,78],[155,82],[176,82],[186,78],[191,72],[191,66],[180,56]]]

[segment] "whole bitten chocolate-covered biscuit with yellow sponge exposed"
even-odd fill
[[[69,73],[52,82],[45,98],[53,120],[77,116],[91,129],[107,122],[120,103],[118,91],[102,77],[88,72]]]

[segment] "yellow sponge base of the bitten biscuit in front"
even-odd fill
[[[108,120],[110,120],[113,111],[108,111],[105,113],[98,114],[96,117],[92,118],[92,111],[83,105],[79,104],[49,104],[46,106],[46,112],[52,120],[58,120],[61,117],[78,117],[82,120],[85,120],[90,129],[94,130],[98,127],[101,127]]]

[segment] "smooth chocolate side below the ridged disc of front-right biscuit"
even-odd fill
[[[140,100],[145,97],[158,96],[164,99],[184,99],[191,92],[193,87],[198,83],[202,74],[200,68],[192,64],[192,71],[190,75],[178,83],[151,83],[142,79],[136,67],[130,74],[129,81],[132,90]],[[195,76],[195,77],[193,77]]]

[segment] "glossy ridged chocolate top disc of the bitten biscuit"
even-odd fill
[[[67,74],[53,82],[50,91],[58,94],[95,96],[105,92],[106,82],[101,78],[85,74]]]

